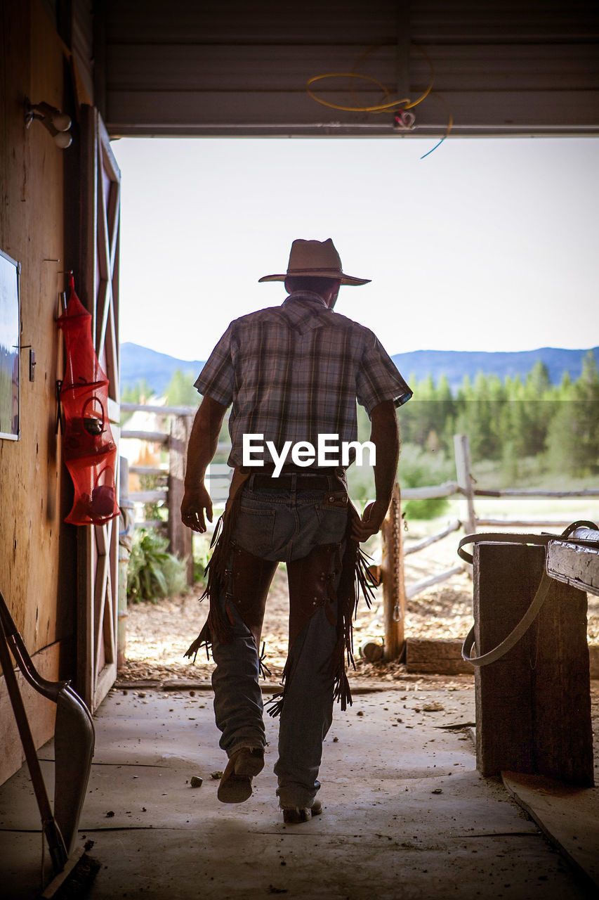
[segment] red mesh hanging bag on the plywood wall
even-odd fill
[[[58,319],[67,344],[60,388],[63,453],[75,486],[66,522],[103,525],[118,516],[114,470],[117,446],[108,419],[108,378],[95,355],[92,316],[75,293],[73,276],[67,310]]]

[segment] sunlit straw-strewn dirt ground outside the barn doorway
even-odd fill
[[[407,536],[405,546],[425,536],[415,532]],[[458,536],[449,536],[438,544],[406,557],[405,581],[409,587],[416,581],[443,572],[459,563],[456,554]],[[380,548],[368,548],[376,560]],[[161,600],[157,604],[130,605],[127,618],[127,662],[119,671],[119,680],[208,680],[212,663],[205,653],[198,654],[195,664],[183,658],[183,653],[199,634],[208,612],[207,602],[200,602],[201,590],[192,589],[178,597]],[[287,656],[287,617],[289,599],[287,576],[280,566],[274,576],[266,617],[263,640],[265,663],[271,671],[269,680],[278,683]],[[472,624],[472,582],[467,572],[452,575],[448,581],[429,588],[407,601],[405,631],[409,637],[463,638]],[[589,595],[589,640],[599,643],[599,598]],[[363,600],[354,622],[356,680],[396,680],[405,667],[398,663],[372,664],[360,658],[359,648],[367,640],[382,641],[382,590],[375,592],[370,609]],[[460,681],[469,680],[461,676]],[[473,680],[472,680],[473,682]]]

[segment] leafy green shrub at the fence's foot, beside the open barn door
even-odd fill
[[[132,603],[181,593],[187,587],[185,563],[166,552],[168,541],[156,531],[136,528],[127,571],[127,599]]]

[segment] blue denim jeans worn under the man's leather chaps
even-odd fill
[[[232,535],[234,547],[273,563],[304,559],[317,545],[337,545],[343,552],[344,491],[253,490],[251,477],[243,491]],[[338,580],[337,572],[335,590]],[[302,592],[309,587],[303,585]],[[294,598],[290,599],[292,604]],[[226,595],[219,598],[223,613],[225,602]],[[230,756],[244,746],[264,747],[265,733],[259,648],[235,606],[228,604],[227,610],[234,639],[228,644],[213,643],[217,665],[212,685],[216,723],[222,732],[220,746]],[[289,648],[279,760],[274,768],[281,806],[311,806],[320,787],[322,742],[333,720],[334,679],[327,662],[337,640],[335,616],[335,601],[328,608],[317,606]]]

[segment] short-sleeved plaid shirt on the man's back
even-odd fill
[[[316,447],[318,434],[354,441],[356,399],[370,416],[383,401],[400,406],[412,396],[370,329],[305,291],[231,322],[195,387],[233,403],[228,463],[237,466],[244,434],[264,435],[278,453],[288,440]]]

